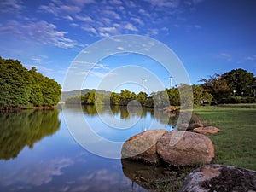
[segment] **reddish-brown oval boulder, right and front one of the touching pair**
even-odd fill
[[[160,158],[173,166],[209,164],[214,157],[212,141],[190,131],[171,131],[156,143]]]

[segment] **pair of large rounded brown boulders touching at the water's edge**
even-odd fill
[[[214,157],[212,141],[205,135],[190,131],[148,130],[128,139],[122,148],[122,158],[140,160],[159,166],[209,164]]]

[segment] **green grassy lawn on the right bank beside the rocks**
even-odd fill
[[[210,136],[215,146],[213,163],[256,170],[256,104],[195,108],[207,125],[221,129]]]

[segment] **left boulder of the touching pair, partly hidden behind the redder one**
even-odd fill
[[[156,142],[166,130],[143,131],[125,141],[122,148],[122,158],[141,160],[146,164],[158,166],[161,163],[156,153]]]

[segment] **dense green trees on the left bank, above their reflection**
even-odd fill
[[[37,72],[27,70],[20,61],[0,57],[0,108],[34,108],[55,106],[61,85]]]

